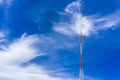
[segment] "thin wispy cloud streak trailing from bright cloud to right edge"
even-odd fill
[[[120,11],[117,10],[103,17],[93,18],[94,19],[93,23],[99,24],[99,25],[96,25],[98,30],[115,28],[115,26],[120,25],[119,16],[120,16]]]

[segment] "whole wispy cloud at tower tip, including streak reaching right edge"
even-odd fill
[[[85,16],[81,12],[80,1],[70,3],[65,8],[64,14],[67,14],[67,17],[69,17],[68,21],[62,19],[60,22],[54,24],[53,29],[56,32],[68,36],[80,34],[80,30],[82,31],[83,36],[89,36],[101,29],[114,28],[120,24],[120,11],[97,18],[94,15]],[[62,14],[62,16],[66,16],[64,14]]]

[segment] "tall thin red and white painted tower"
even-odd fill
[[[83,36],[82,36],[82,30],[80,29],[80,74],[79,74],[79,80],[84,80],[84,74],[83,74],[83,55],[82,55],[82,47],[83,47]]]

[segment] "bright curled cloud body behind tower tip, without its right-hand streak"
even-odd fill
[[[71,16],[70,21],[61,21],[54,25],[53,29],[57,32],[69,36],[80,34],[81,30],[84,36],[88,36],[90,32],[93,31],[93,23],[91,22],[89,17],[83,16],[81,14],[80,6],[81,5],[79,1],[75,1],[69,4],[65,8],[65,13]]]

